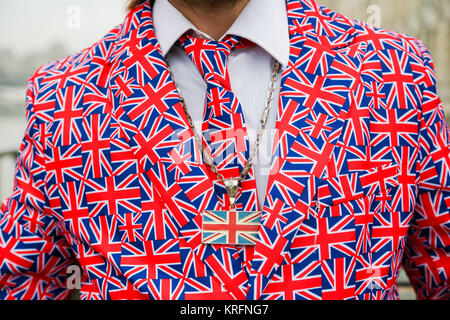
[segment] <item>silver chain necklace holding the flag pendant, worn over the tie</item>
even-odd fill
[[[175,83],[175,78],[173,77],[172,70],[170,69],[169,61],[167,59],[165,59],[165,61],[166,61],[168,70],[170,72],[172,81]],[[272,107],[272,101],[274,98],[274,92],[275,92],[275,88],[276,88],[276,84],[277,84],[277,80],[278,80],[278,75],[279,75],[280,69],[281,69],[280,67],[281,67],[280,63],[274,59],[272,78],[271,78],[271,82],[269,85],[269,92],[267,94],[267,101],[265,104],[265,108],[264,108],[264,111],[261,116],[258,134],[256,136],[255,143],[253,144],[253,147],[251,148],[250,156],[247,159],[245,166],[242,169],[238,178],[226,179],[221,173],[219,173],[217,166],[215,165],[215,163],[213,161],[212,156],[209,154],[209,152],[203,146],[201,135],[195,129],[194,122],[192,121],[192,117],[188,112],[186,102],[181,94],[180,89],[178,88],[178,86],[175,83],[175,88],[177,89],[178,96],[180,97],[181,104],[183,105],[184,112],[186,113],[186,116],[189,121],[189,126],[191,127],[192,131],[194,132],[195,140],[197,141],[200,152],[202,154],[203,162],[206,163],[211,168],[211,171],[217,175],[218,180],[225,185],[227,194],[230,198],[231,208],[236,208],[236,198],[237,198],[237,194],[239,192],[240,184],[242,181],[244,181],[247,178],[247,176],[250,172],[250,169],[253,166],[255,157],[258,153],[258,149],[261,144],[262,135],[264,134],[264,131],[266,129],[267,119],[269,118],[270,109]]]

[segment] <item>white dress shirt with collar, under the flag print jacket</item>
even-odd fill
[[[186,102],[197,132],[201,133],[206,83],[191,59],[178,46],[177,40],[189,30],[210,39],[211,37],[199,31],[168,0],[155,1],[153,24],[163,55],[169,61],[174,81]],[[267,101],[274,59],[280,62],[283,69],[289,62],[286,2],[284,0],[250,0],[225,35],[228,34],[241,36],[256,44],[246,50],[233,51],[227,63],[231,88],[242,105],[250,147],[252,147]],[[281,74],[277,82],[267,129],[253,165],[261,208],[264,204],[272,158],[280,78]]]

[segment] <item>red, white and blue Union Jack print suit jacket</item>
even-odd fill
[[[449,130],[418,40],[286,2],[290,62],[259,241],[204,245],[214,193],[144,4],[30,79],[0,298],[450,297]],[[243,183],[239,203],[257,209]]]

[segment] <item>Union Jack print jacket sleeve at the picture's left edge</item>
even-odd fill
[[[67,241],[49,214],[43,126],[28,82],[27,129],[19,150],[13,193],[0,210],[0,300],[58,300],[71,291],[67,267],[75,264]]]

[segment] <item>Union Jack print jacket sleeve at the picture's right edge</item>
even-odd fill
[[[431,55],[418,42],[421,64],[413,66],[422,91],[418,164],[420,176],[403,266],[418,299],[450,299],[450,145],[437,94]]]

